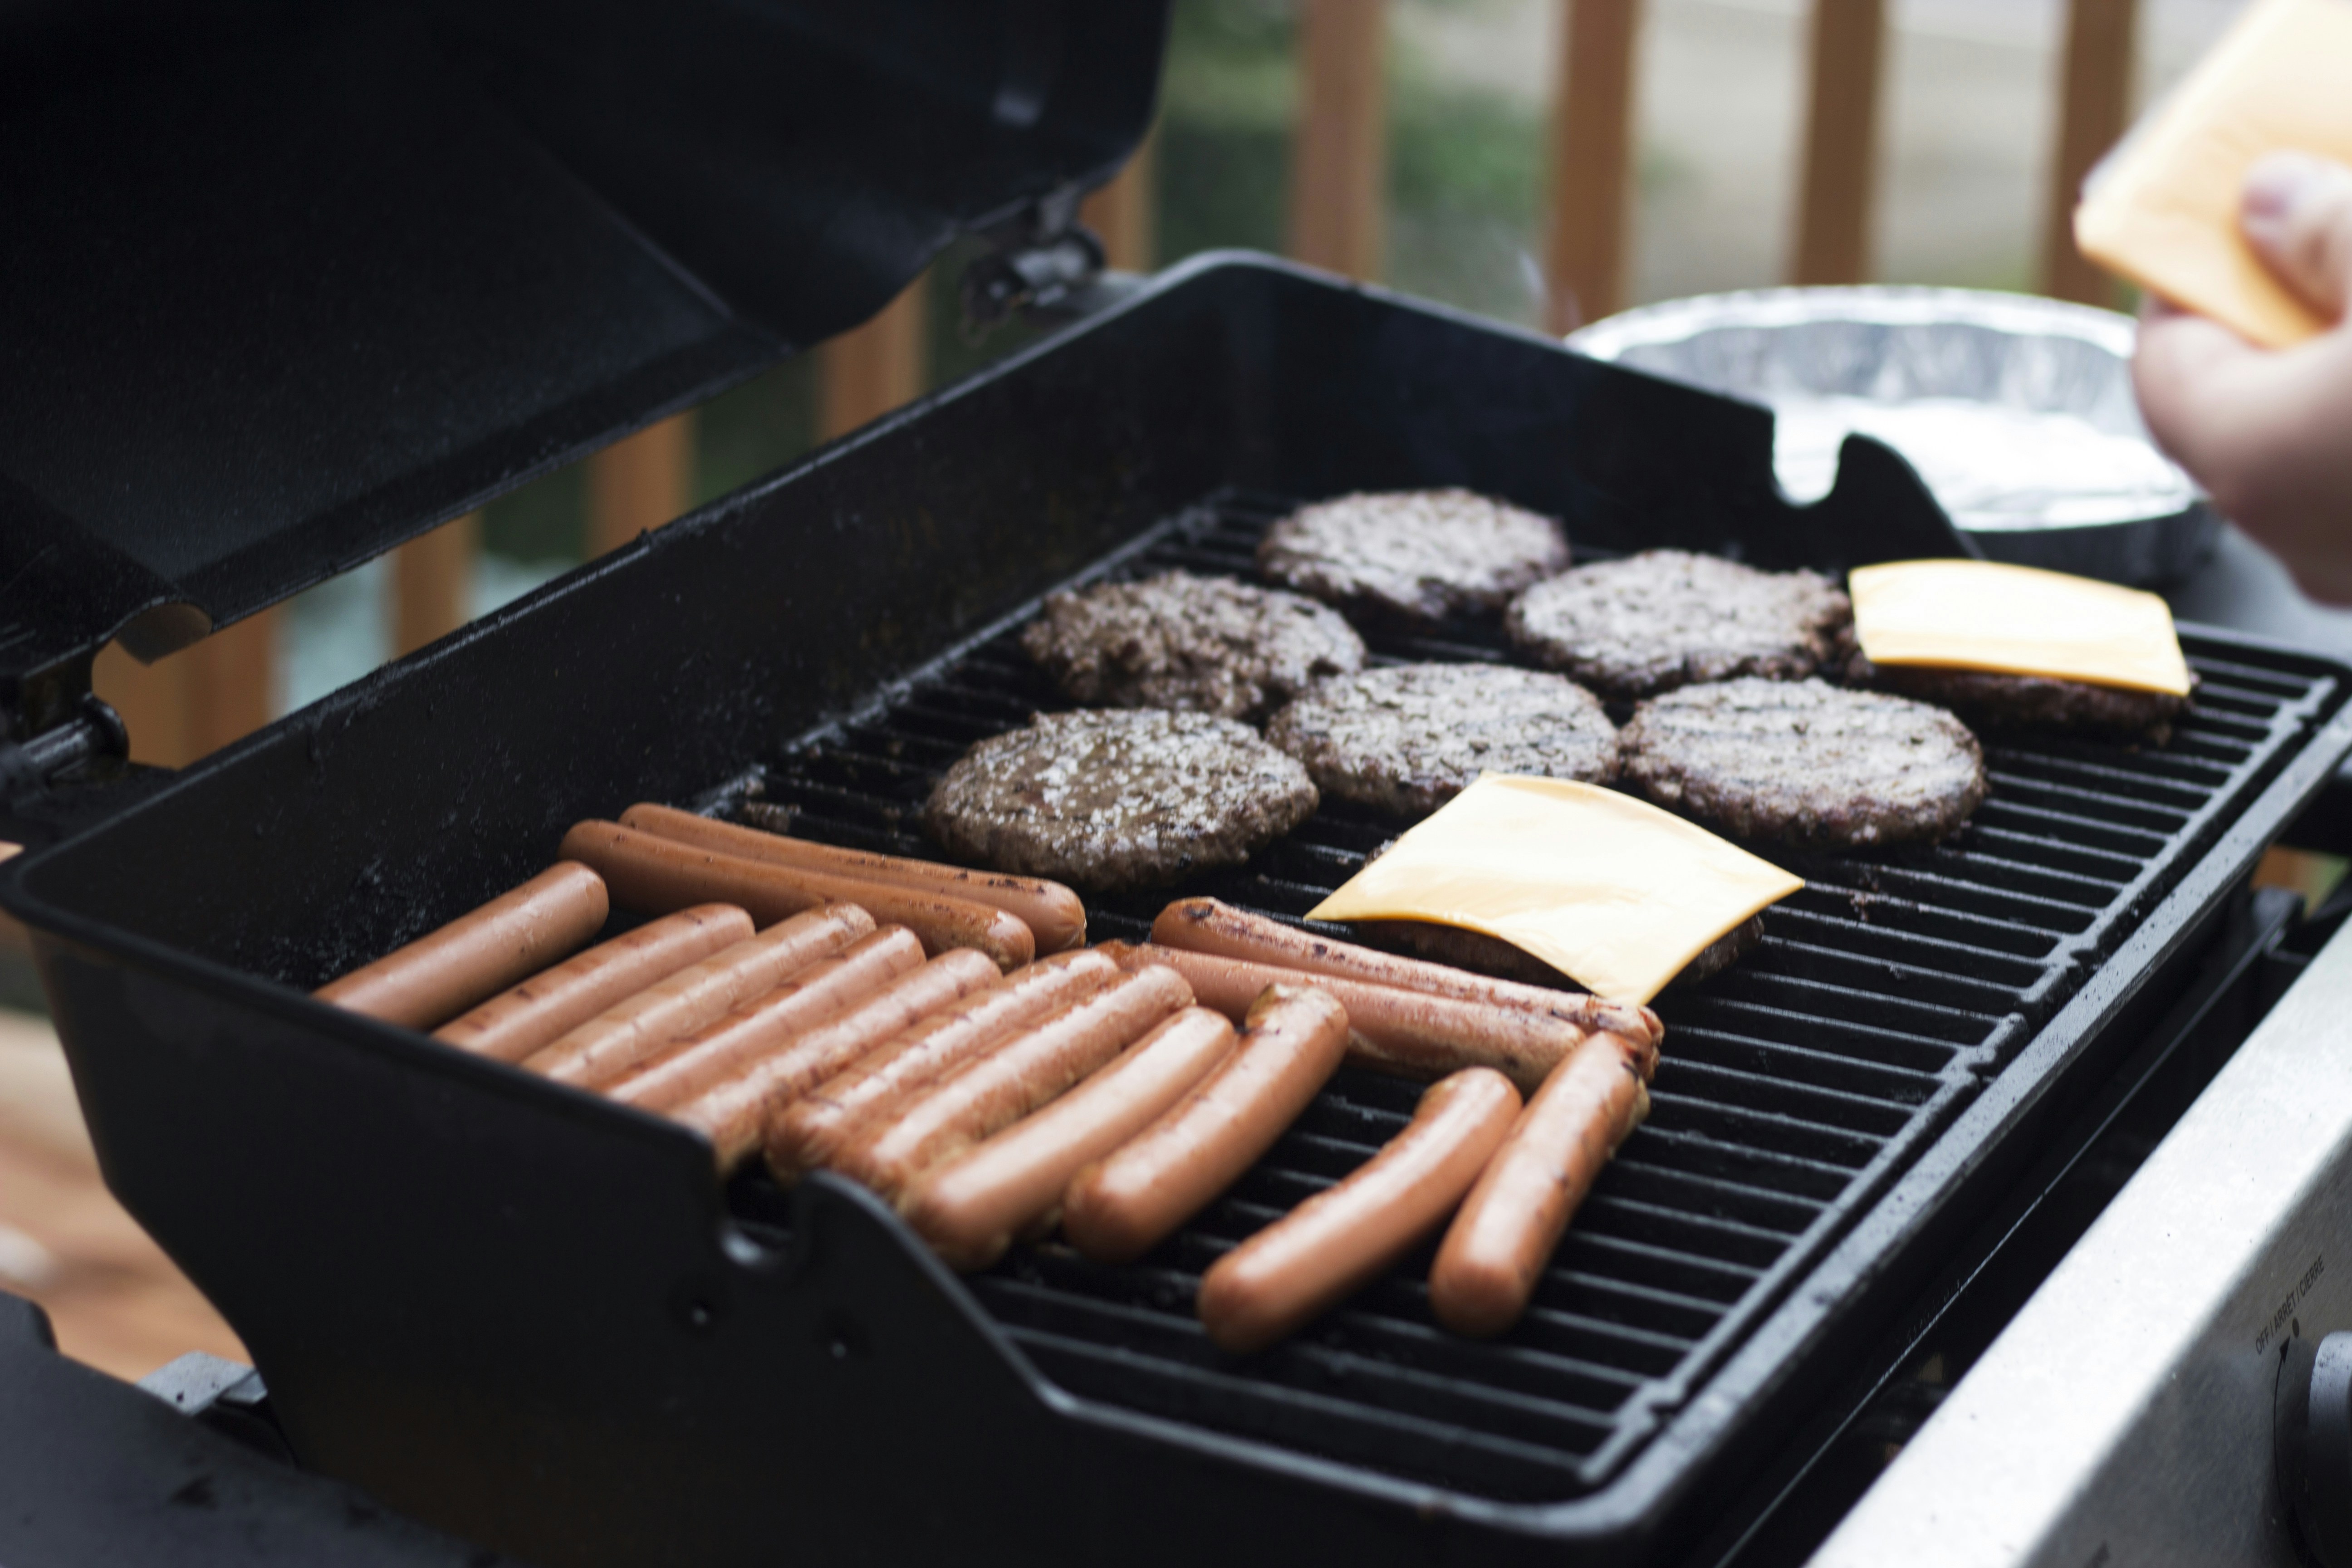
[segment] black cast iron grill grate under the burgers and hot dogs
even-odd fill
[[[1211,496],[1098,574],[1249,578],[1261,531],[1284,510],[1272,496]],[[1202,1335],[1200,1274],[1409,1119],[1418,1086],[1359,1070],[1138,1265],[1016,1248],[969,1281],[974,1295],[1080,1396],[1472,1495],[1592,1490],[2082,985],[2331,696],[2326,677],[2293,661],[2249,663],[2239,646],[2194,637],[2187,651],[2197,705],[2161,750],[1990,745],[1992,797],[1945,844],[1776,856],[1806,877],[1804,891],[1766,917],[1764,943],[1731,971],[1658,999],[1668,1039],[1651,1117],[1512,1333],[1470,1342],[1439,1331],[1423,1251],[1261,1356],[1225,1356]],[[1508,646],[1494,625],[1449,625],[1376,637],[1374,654],[1496,661]],[[802,743],[760,788],[793,809],[795,832],[934,853],[917,813],[938,771],[974,741],[1065,705],[1002,630],[882,710]],[[1141,940],[1178,893],[1296,922],[1395,832],[1327,804],[1247,867],[1089,898],[1091,936]],[[736,1197],[764,1220],[781,1204],[760,1180]]]

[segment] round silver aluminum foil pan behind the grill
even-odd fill
[[[1625,310],[1569,348],[1773,411],[1792,501],[1849,433],[1903,454],[1985,559],[2161,585],[2213,548],[2204,491],[2147,437],[2138,324],[1983,289],[1757,289]]]

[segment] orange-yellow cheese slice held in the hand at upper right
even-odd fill
[[[2074,244],[2110,273],[2265,348],[2328,327],[2237,230],[2263,153],[2352,162],[2352,0],[2256,0],[2074,209]]]

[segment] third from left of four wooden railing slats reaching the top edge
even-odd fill
[[[1804,181],[1790,282],[1870,277],[1884,56],[1884,0],[1813,0]]]

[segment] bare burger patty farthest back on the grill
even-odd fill
[[[1357,614],[1435,623],[1496,611],[1569,567],[1550,517],[1468,489],[1397,489],[1303,505],[1258,541],[1268,578]]]

